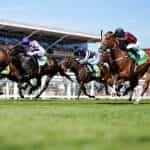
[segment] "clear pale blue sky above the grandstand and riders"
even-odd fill
[[[93,34],[118,27],[150,47],[149,0],[0,0],[0,19]]]

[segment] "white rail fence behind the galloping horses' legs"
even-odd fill
[[[75,76],[73,74],[71,75],[71,78],[74,80],[74,82],[70,82],[64,77],[61,76],[54,76],[54,78],[51,80],[49,83],[49,86],[47,90],[42,94],[41,98],[42,99],[50,99],[50,98],[76,98],[77,93],[79,90],[78,83],[75,80]],[[141,81],[142,84],[143,81]],[[44,83],[44,78],[43,78],[43,83]],[[14,98],[17,99],[19,98],[18,94],[18,88],[17,84],[11,81],[8,81],[7,79],[1,80],[0,82],[1,90],[4,93],[3,95],[0,96],[0,98]],[[87,84],[86,88],[89,94],[95,95],[96,98],[111,98],[111,99],[116,99],[116,97],[112,96],[106,96],[104,89],[100,92],[97,92],[100,87],[100,84],[97,82],[90,82]],[[141,86],[137,86],[135,90],[135,95],[139,95],[141,93]],[[37,93],[38,91],[36,91]],[[36,94],[35,93],[35,94]],[[25,95],[26,97],[33,98],[34,95]],[[85,95],[81,94],[82,98],[85,98]],[[122,97],[122,98],[127,98],[127,97]],[[148,90],[144,96],[144,98],[150,98],[150,90]]]

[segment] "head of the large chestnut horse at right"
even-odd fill
[[[119,45],[119,41],[115,38],[113,32],[109,31],[101,39],[100,50],[113,49],[117,45]]]

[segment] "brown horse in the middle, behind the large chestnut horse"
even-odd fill
[[[70,69],[70,71],[74,72],[76,76],[76,80],[79,83],[79,91],[78,91],[78,97],[77,97],[78,100],[79,100],[81,91],[83,91],[83,93],[89,98],[95,98],[95,96],[88,94],[85,88],[85,84],[93,80],[103,83],[106,89],[106,93],[108,93],[107,83],[109,82],[110,85],[112,83],[110,80],[110,77],[111,77],[110,71],[107,66],[98,65],[99,70],[101,72],[100,77],[93,76],[93,72],[90,72],[88,70],[88,67],[86,64],[80,64],[76,59],[72,57],[65,57],[62,60],[60,66],[62,70],[64,70],[65,72],[67,71],[67,69]]]

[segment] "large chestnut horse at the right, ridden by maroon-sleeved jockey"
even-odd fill
[[[107,55],[107,62],[111,67],[115,82],[129,81],[130,86],[124,94],[130,91],[129,101],[132,100],[134,88],[138,85],[138,80],[149,70],[150,58],[147,57],[145,63],[136,65],[128,56],[127,51],[120,48],[119,41],[112,32],[107,32],[101,39],[100,51],[102,55]],[[149,79],[149,77],[146,77]]]

